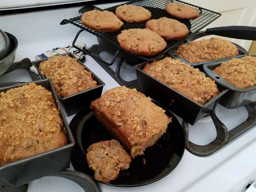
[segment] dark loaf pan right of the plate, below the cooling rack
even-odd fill
[[[206,104],[201,105],[142,71],[147,63],[149,62],[135,66],[139,90],[191,125],[194,125],[198,120],[214,110],[219,99],[229,91],[217,84],[221,93]]]

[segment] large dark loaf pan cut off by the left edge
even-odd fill
[[[51,83],[51,80],[43,79],[33,82],[36,83],[36,85],[41,85],[42,87],[45,87],[51,91],[57,108],[60,109],[60,117],[63,120],[63,125],[65,127],[66,135],[68,138],[68,144],[57,149],[53,149],[1,166],[0,179],[4,180],[12,187],[18,187],[38,178],[69,168],[70,155],[75,144],[68,122],[65,118],[61,106],[59,105],[58,97]],[[29,83],[32,82],[2,87],[0,88],[0,92],[6,92],[9,89],[17,88]]]

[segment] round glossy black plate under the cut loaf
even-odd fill
[[[142,186],[156,182],[172,172],[183,156],[185,138],[175,116],[168,110],[166,115],[172,117],[166,133],[153,146],[148,147],[144,155],[132,159],[129,169],[121,170],[116,179],[104,184],[118,187]],[[93,143],[111,140],[113,136],[89,109],[82,109],[74,116],[70,129],[76,141],[71,154],[72,163],[79,171],[94,178],[94,172],[86,161],[87,148]]]

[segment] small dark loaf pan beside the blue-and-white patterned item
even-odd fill
[[[65,54],[61,54],[61,55],[68,55],[69,57],[72,58],[76,58],[72,53],[65,53]],[[51,57],[49,57],[51,58]],[[41,71],[38,69],[39,65],[42,61],[46,61],[47,59],[41,59],[41,60],[37,60],[37,61],[33,61],[33,65],[36,67],[39,76],[41,77],[41,79],[46,79],[45,76],[41,73]],[[83,67],[86,67],[83,65],[83,63],[79,60],[77,60]],[[100,98],[101,93],[102,93],[102,89],[103,86],[105,85],[105,83],[99,78],[97,77],[90,69],[88,69],[86,67],[87,71],[90,71],[92,73],[92,77],[93,80],[97,82],[97,87],[93,87],[91,89],[87,89],[84,91],[81,91],[79,93],[70,95],[68,97],[62,98],[58,95],[59,100],[61,101],[61,103],[63,104],[67,115],[73,115],[75,113],[77,113],[78,111],[80,111],[83,107],[90,107],[91,102],[94,101],[95,99]]]

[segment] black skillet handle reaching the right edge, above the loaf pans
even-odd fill
[[[206,33],[235,39],[256,40],[256,27],[226,26],[206,29]]]

